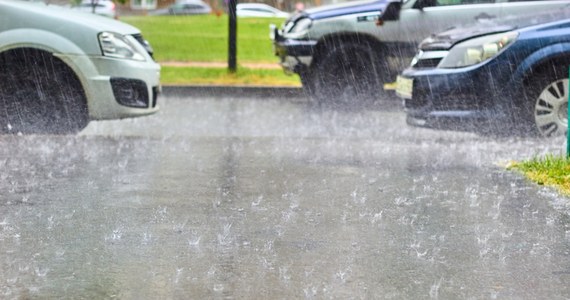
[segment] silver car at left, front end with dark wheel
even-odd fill
[[[137,28],[15,0],[0,1],[0,20],[0,132],[77,132],[159,109],[160,66]]]

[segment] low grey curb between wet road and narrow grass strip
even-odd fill
[[[210,85],[167,85],[162,87],[162,95],[166,97],[305,97],[300,87],[283,86],[210,86]]]

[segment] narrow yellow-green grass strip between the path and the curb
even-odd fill
[[[288,76],[282,70],[237,69],[231,74],[226,68],[162,67],[163,85],[250,85],[301,86],[299,76]]]

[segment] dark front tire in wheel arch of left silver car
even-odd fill
[[[89,122],[79,79],[51,53],[9,50],[0,55],[0,132],[76,133]]]

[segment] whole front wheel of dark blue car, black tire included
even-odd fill
[[[524,90],[518,133],[553,137],[568,130],[568,69],[548,68],[533,74]],[[516,120],[514,120],[516,122]],[[520,122],[520,121],[519,121]]]

